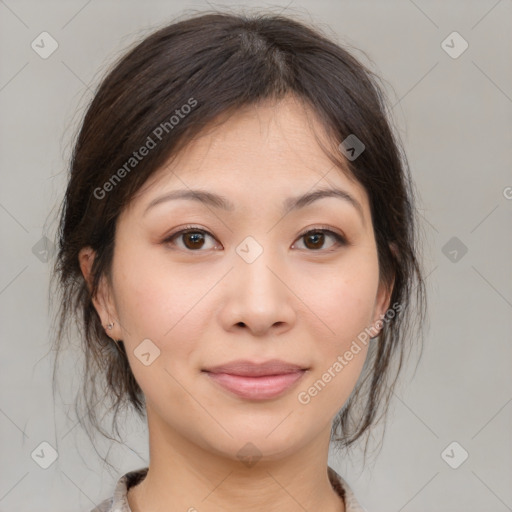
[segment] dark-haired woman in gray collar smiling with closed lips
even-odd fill
[[[54,269],[89,419],[100,386],[147,417],[149,466],[95,512],[362,510],[328,449],[387,410],[424,319],[415,214],[377,77],[318,30],[208,13],[124,55]]]

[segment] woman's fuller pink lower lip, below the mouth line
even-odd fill
[[[243,377],[229,373],[206,373],[217,384],[239,397],[247,400],[268,400],[281,395],[291,388],[304,375],[305,370],[263,377]]]

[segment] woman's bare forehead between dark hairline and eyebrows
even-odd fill
[[[325,148],[335,147],[314,112],[293,96],[243,107],[211,123],[173,155],[139,191],[133,207],[141,213],[163,191],[187,187],[218,192],[235,208],[251,200],[281,206],[283,196],[334,187],[367,210],[364,188],[329,159],[318,139]]]

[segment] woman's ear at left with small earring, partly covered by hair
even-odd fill
[[[78,253],[80,269],[84,276],[89,292],[92,290],[93,276],[91,274],[91,269],[95,256],[96,253],[91,247],[84,247]],[[121,339],[121,326],[119,324],[114,301],[111,299],[110,287],[105,276],[101,276],[97,293],[94,297],[91,298],[91,300],[94,308],[96,309],[96,312],[101,319],[101,324],[103,325],[107,336],[113,340]],[[112,329],[107,328],[107,325],[110,323],[114,324]]]

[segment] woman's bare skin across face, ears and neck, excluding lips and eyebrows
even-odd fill
[[[112,281],[102,280],[94,305],[103,325],[114,322],[106,332],[124,341],[146,397],[149,472],[128,492],[133,512],[345,510],[327,476],[330,429],[367,345],[310,403],[297,397],[381,318],[391,288],[379,283],[367,194],[314,133],[328,143],[291,96],[239,110],[159,169],[118,219]],[[283,213],[286,198],[320,187],[349,192],[362,217],[334,197]],[[187,188],[222,194],[235,210],[180,199],[144,214],[156,197]],[[187,224],[211,236],[164,242]],[[350,245],[301,236],[322,225]],[[236,252],[247,236],[263,249],[252,263]],[[93,257],[80,253],[86,280]],[[160,350],[148,366],[134,354],[146,338]],[[201,372],[271,358],[310,368],[271,400],[237,397]],[[250,467],[237,457],[248,442],[261,456]]]

